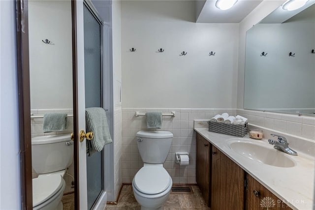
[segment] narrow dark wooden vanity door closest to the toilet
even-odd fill
[[[204,139],[200,134],[196,135],[196,181],[201,191],[201,194],[210,206],[210,147],[211,144]]]

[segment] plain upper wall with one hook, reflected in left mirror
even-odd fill
[[[70,1],[29,1],[32,109],[73,107],[71,30]]]

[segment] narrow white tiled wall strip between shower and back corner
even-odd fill
[[[122,180],[122,148],[123,148],[123,123],[122,108],[116,107],[114,111],[114,153],[115,153],[115,198],[123,184]]]

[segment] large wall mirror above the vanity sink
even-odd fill
[[[315,116],[315,1],[246,33],[244,109]]]

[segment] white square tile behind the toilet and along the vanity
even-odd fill
[[[241,115],[249,123],[284,133],[296,135],[308,140],[315,140],[315,117],[260,112],[244,109],[175,109],[175,108],[123,108],[123,147],[122,179],[124,183],[132,182],[134,175],[143,166],[135,138],[139,130],[148,130],[145,116],[135,117],[135,112],[145,113],[161,111],[175,112],[175,117],[163,116],[162,128],[173,133],[173,142],[164,168],[171,175],[173,183],[196,183],[195,160],[196,139],[193,131],[194,120],[209,120],[217,114],[227,112],[229,115]],[[175,163],[175,152],[188,151],[189,165]]]

